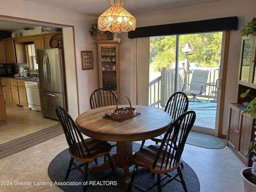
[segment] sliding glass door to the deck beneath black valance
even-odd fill
[[[221,48],[222,32],[151,37],[149,106],[164,108],[174,92],[185,92],[194,129],[217,134]]]

